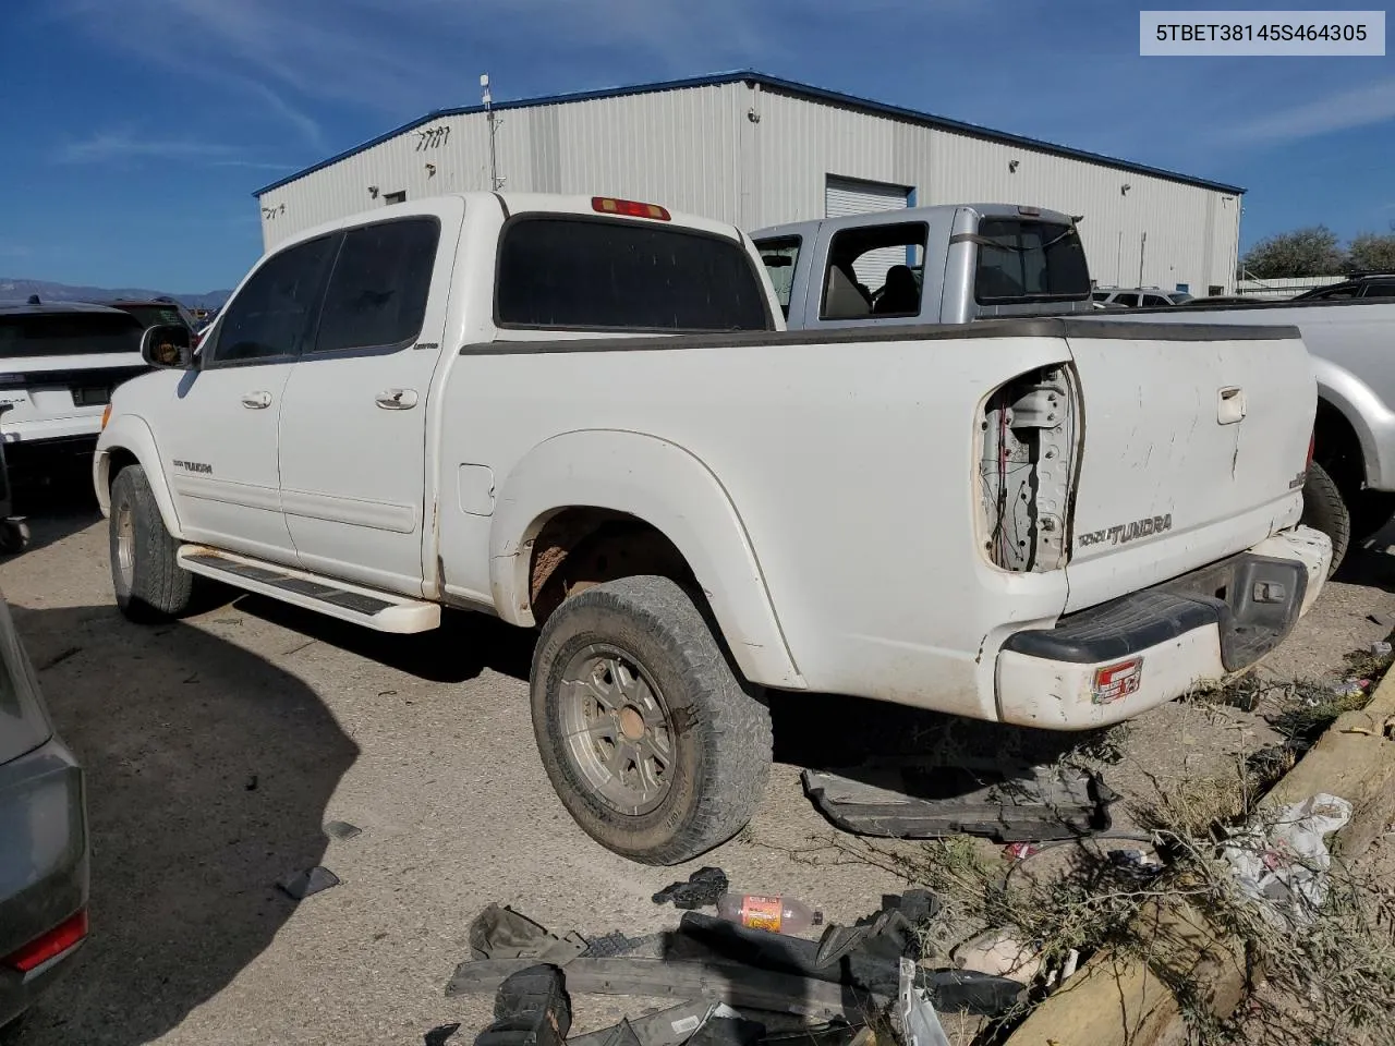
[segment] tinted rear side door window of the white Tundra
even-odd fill
[[[379,222],[345,234],[319,314],[317,353],[405,344],[421,333],[441,226]]]

